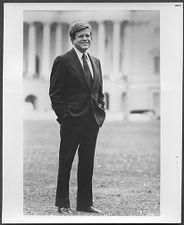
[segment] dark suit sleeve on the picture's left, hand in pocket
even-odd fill
[[[52,67],[49,96],[52,108],[59,119],[62,119],[62,117],[68,112],[64,95],[65,78],[66,64],[62,57],[58,56]]]

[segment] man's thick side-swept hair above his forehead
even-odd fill
[[[87,23],[87,22],[83,22],[83,21],[77,21],[74,22],[69,29],[69,34],[70,34],[70,38],[71,40],[75,39],[75,34],[81,30],[84,29],[89,29],[90,30],[90,34],[92,35],[92,29],[91,26]]]

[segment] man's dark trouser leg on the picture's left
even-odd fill
[[[59,152],[59,169],[56,190],[56,206],[70,207],[69,180],[72,162],[79,144],[80,126],[75,126],[73,120],[64,121],[61,126],[61,143]]]

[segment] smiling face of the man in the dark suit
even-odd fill
[[[86,28],[75,34],[75,39],[72,40],[73,45],[81,52],[85,52],[91,45],[90,29]]]

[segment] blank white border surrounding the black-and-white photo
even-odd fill
[[[98,5],[98,7],[97,7]],[[178,5],[178,6],[176,6]],[[183,3],[5,3],[3,55],[3,223],[87,223],[88,216],[23,215],[23,11],[160,10],[160,216],[94,216],[90,223],[180,223]],[[11,16],[10,16],[11,15]]]

